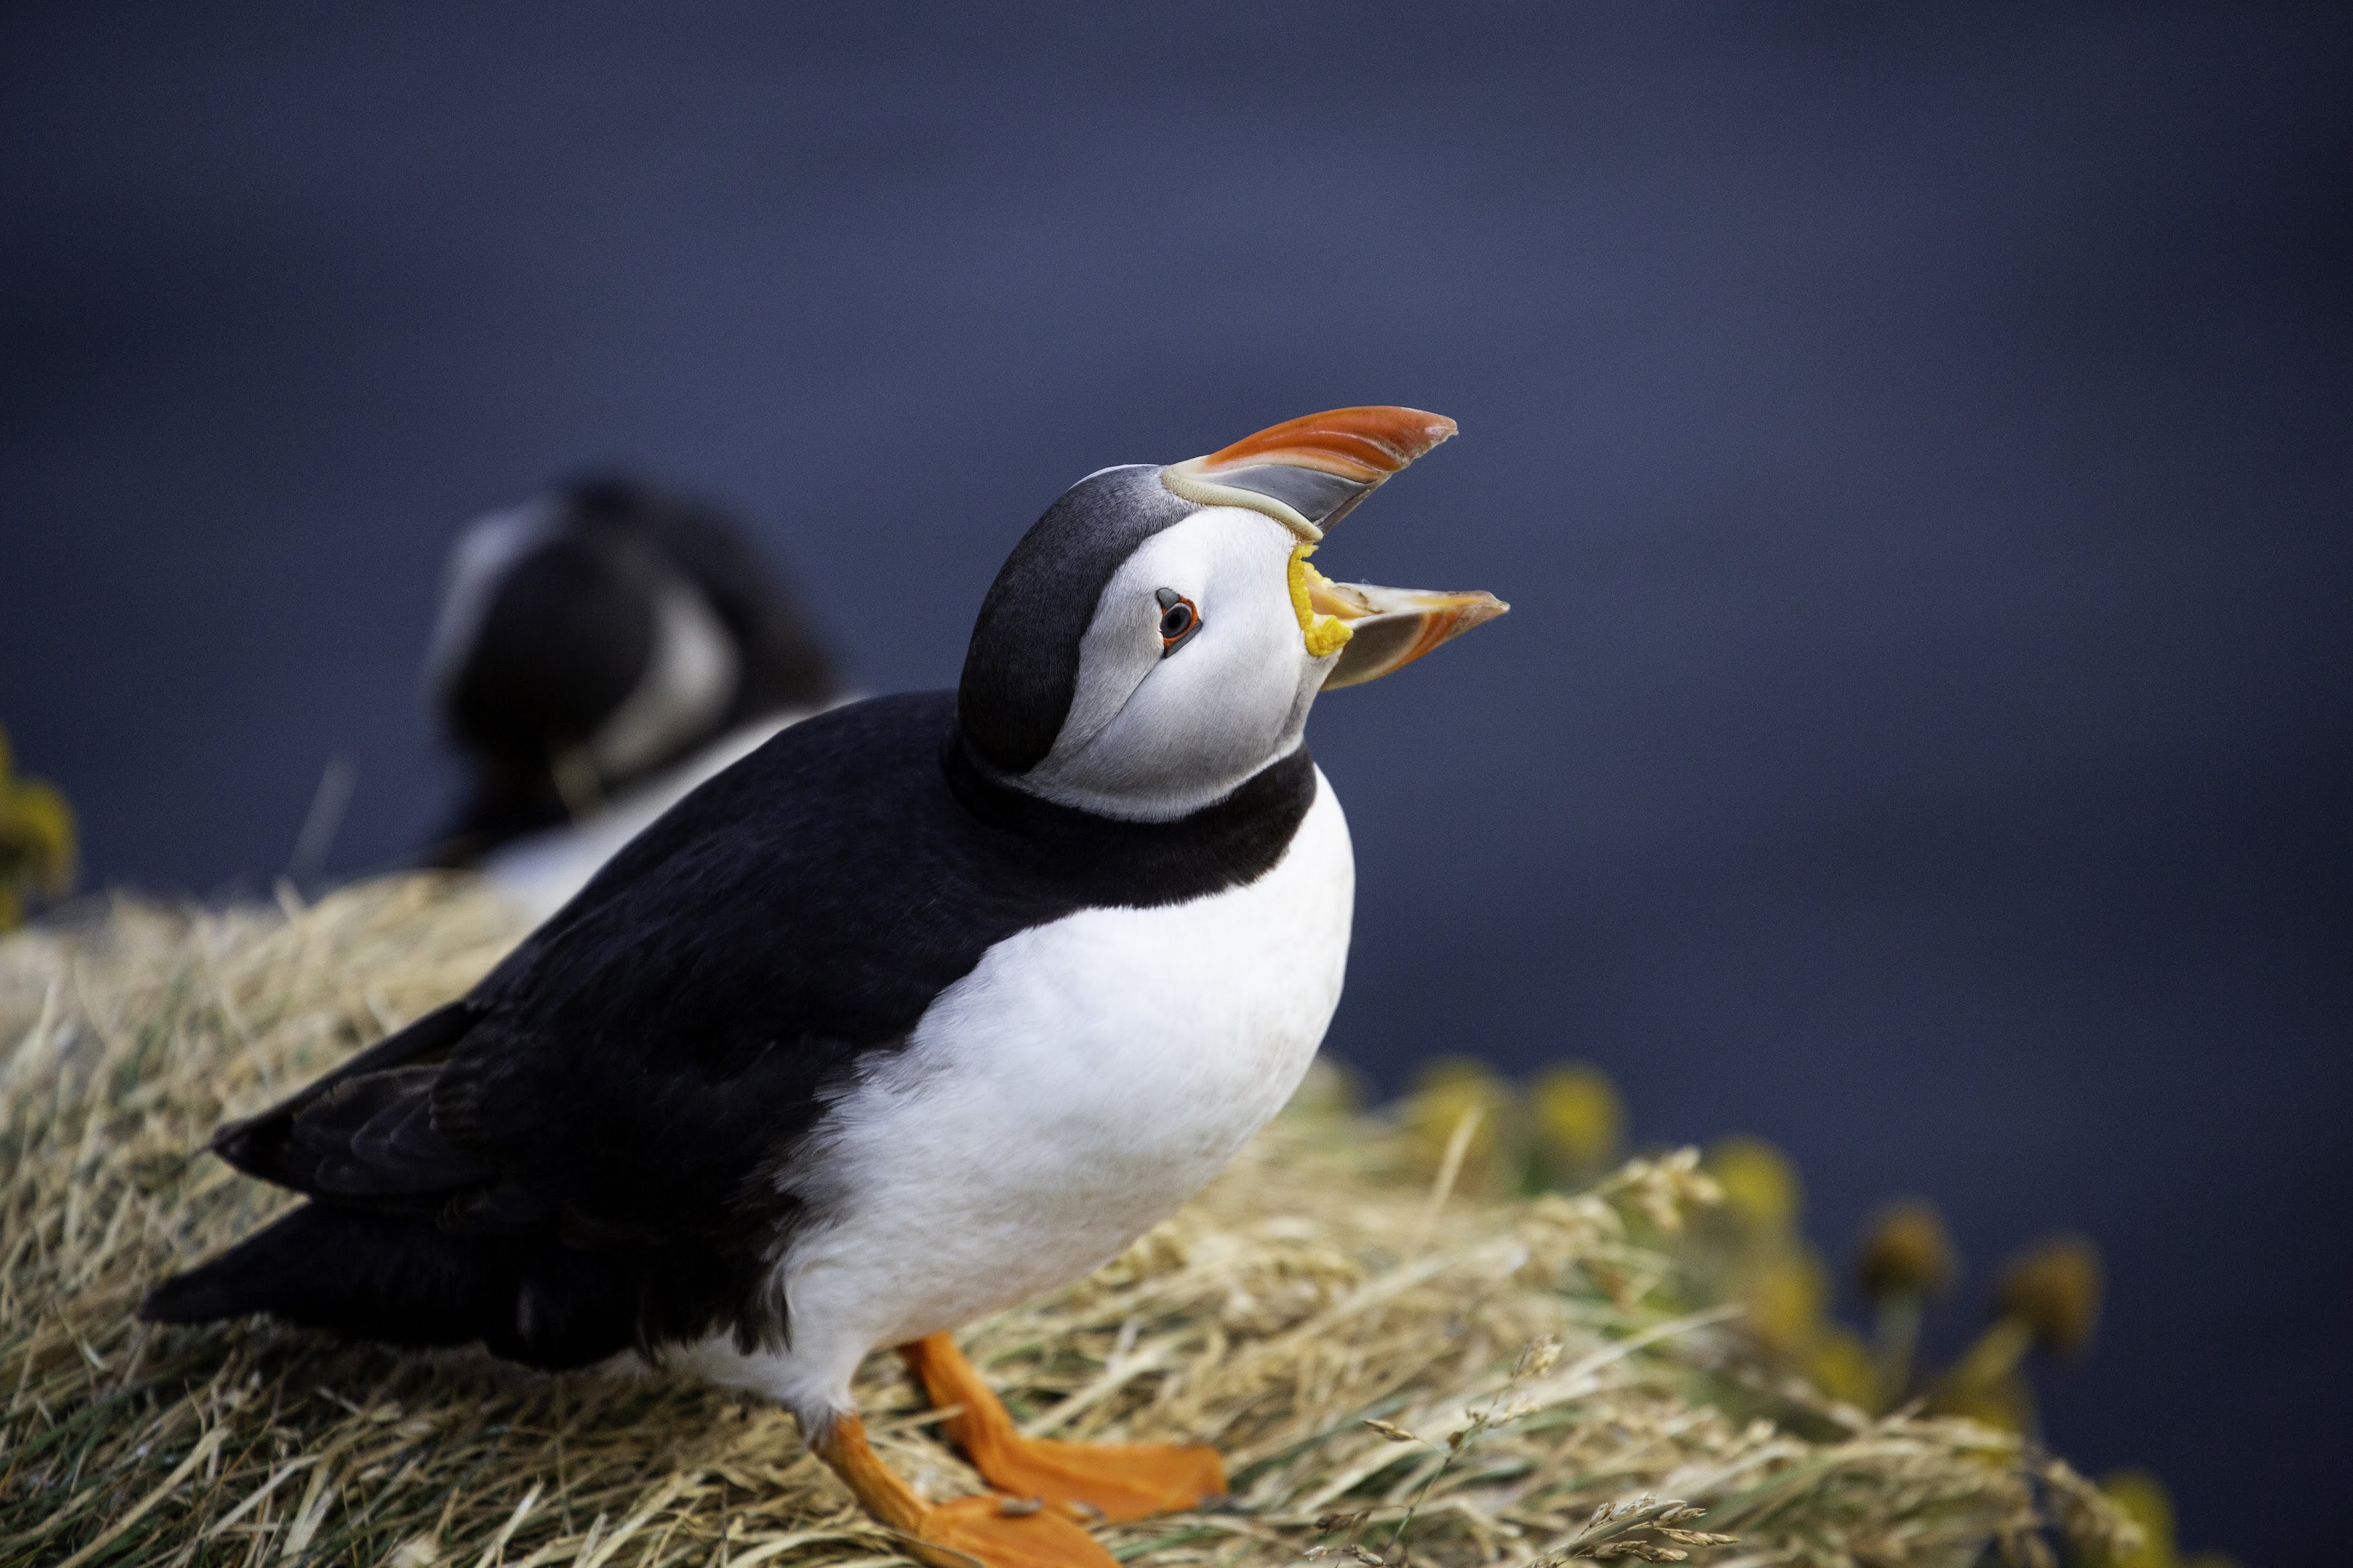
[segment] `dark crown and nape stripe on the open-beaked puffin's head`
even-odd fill
[[[1078,645],[1104,586],[1146,539],[1200,511],[1160,483],[1160,469],[1106,469],[1061,492],[998,579],[965,652],[958,718],[998,772],[1045,760],[1078,692]]]

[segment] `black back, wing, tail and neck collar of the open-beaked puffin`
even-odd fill
[[[861,1059],[1014,932],[1264,876],[1315,800],[1306,749],[1176,822],[1019,793],[955,697],[784,730],[631,841],[464,1001],[214,1142],[313,1198],[144,1314],[268,1311],[536,1366],[732,1330],[824,1182]]]

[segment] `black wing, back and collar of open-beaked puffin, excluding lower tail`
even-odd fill
[[[459,1236],[765,1257],[833,1092],[988,946],[1089,904],[1252,881],[1315,796],[1301,749],[1181,822],[1104,822],[988,782],[953,725],[953,692],[925,692],[784,730],[464,1001],[219,1151]]]

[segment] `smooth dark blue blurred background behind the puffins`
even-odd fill
[[[2064,1450],[2271,1561],[2344,1486],[2344,7],[346,9],[0,35],[0,720],[96,881],[259,888],[336,751],[414,845],[440,553],[584,461],[892,690],[1078,476],[1433,407],[1327,565],[1515,612],[1318,711],[1334,1045],[1595,1057],[1977,1293],[2082,1227]]]

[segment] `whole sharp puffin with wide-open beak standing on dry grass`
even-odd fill
[[[1311,556],[1449,436],[1346,407],[1082,478],[953,692],[779,732],[473,991],[224,1125],[306,1203],[141,1316],[760,1394],[936,1568],[1111,1568],[1089,1521],[1219,1497],[1209,1448],[1021,1436],[953,1333],[1115,1257],[1306,1074],[1355,892],[1308,709],[1506,610]],[[878,1460],[875,1349],[988,1493]]]

